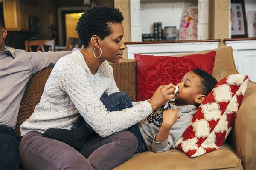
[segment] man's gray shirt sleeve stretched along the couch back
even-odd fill
[[[31,62],[32,74],[41,71],[49,66],[54,66],[56,62],[63,56],[70,54],[72,51],[59,52],[26,52]]]

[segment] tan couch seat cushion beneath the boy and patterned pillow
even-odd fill
[[[114,170],[242,170],[241,160],[228,144],[219,150],[196,158],[186,156],[180,150],[171,149],[164,153],[147,151],[131,157]]]

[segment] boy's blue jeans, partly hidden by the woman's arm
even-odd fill
[[[100,100],[102,101],[103,105],[108,111],[122,111],[123,109],[133,107],[131,103],[131,99],[124,92],[116,92],[116,93],[110,94],[109,96],[106,93],[104,93],[100,98]],[[77,127],[81,126],[84,122],[85,122],[84,118],[80,116],[79,119],[72,126],[72,129],[76,129]],[[92,133],[95,133],[89,124],[87,124],[87,127],[90,129]],[[138,124],[135,124],[129,127],[127,131],[133,133],[138,141],[138,148],[135,154],[148,151],[148,148],[140,134]]]

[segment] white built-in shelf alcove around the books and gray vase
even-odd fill
[[[176,26],[179,30],[183,9],[194,6],[198,6],[198,35],[204,35],[201,38],[207,39],[209,8],[206,4],[208,3],[209,0],[130,0],[131,42],[141,42],[141,34],[153,33],[154,22],[161,22],[162,28]]]

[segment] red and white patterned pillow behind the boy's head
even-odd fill
[[[199,106],[175,147],[190,157],[218,150],[232,129],[247,83],[248,76],[241,74],[221,79]]]

